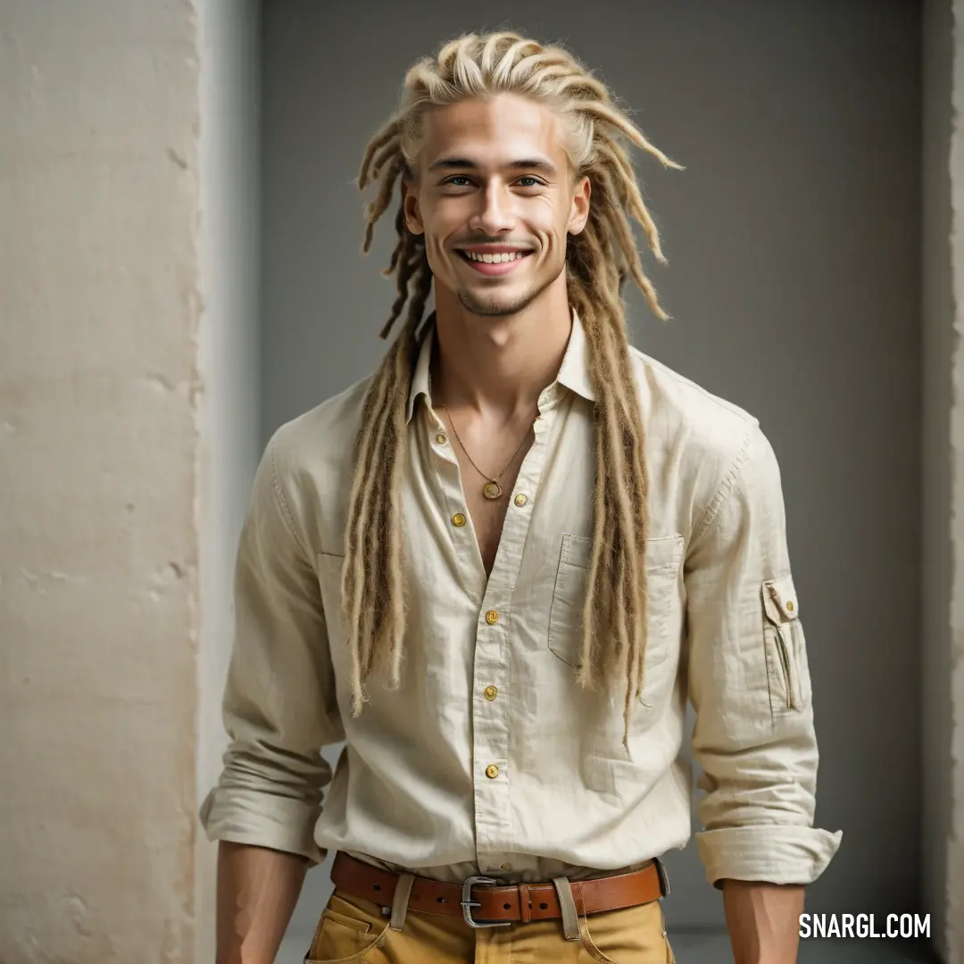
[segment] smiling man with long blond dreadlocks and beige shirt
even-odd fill
[[[360,177],[365,250],[400,180],[403,330],[269,442],[241,539],[202,809],[219,959],[272,961],[336,850],[310,961],[673,961],[688,697],[736,961],[789,964],[840,834],[812,825],[779,470],[755,418],[629,347],[620,297],[667,317],[624,145],[678,165],[515,34],[446,44],[404,94]]]

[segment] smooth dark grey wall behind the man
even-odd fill
[[[644,351],[759,415],[784,474],[821,745],[818,823],[844,829],[809,909],[921,905],[921,13],[896,0],[726,4],[272,0],[263,24],[263,420],[362,377],[392,297],[390,221],[359,254],[351,180],[406,67],[509,25],[571,43],[636,109],[675,321]],[[721,924],[695,848],[671,925]],[[329,890],[313,872],[293,928]],[[933,911],[932,906],[924,910]]]

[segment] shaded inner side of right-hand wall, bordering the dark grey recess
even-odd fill
[[[932,934],[942,960],[962,964],[953,956],[954,913],[959,897],[951,878],[955,849],[954,804],[961,794],[954,792],[957,779],[951,739],[954,732],[954,700],[964,705],[959,678],[954,673],[954,632],[960,625],[959,606],[951,608],[954,583],[964,574],[955,556],[959,554],[962,513],[954,511],[964,491],[955,478],[954,464],[964,452],[959,415],[954,415],[954,369],[961,364],[955,355],[955,298],[952,257],[954,220],[952,194],[960,192],[960,174],[952,169],[952,147],[959,140],[959,120],[954,114],[954,71],[962,58],[959,9],[964,0],[926,0],[924,4],[924,155],[923,155],[923,251],[922,278],[924,344],[924,398],[922,426],[923,455],[923,573],[922,680],[924,683],[923,733],[923,885],[921,909],[931,915]],[[957,21],[955,25],[955,19]],[[960,84],[957,91],[960,91]],[[956,148],[959,152],[959,148]],[[956,182],[956,187],[954,186]],[[958,206],[959,209],[959,206]],[[959,253],[958,253],[959,256]],[[959,271],[958,271],[959,274]],[[959,376],[958,376],[959,377]],[[959,395],[958,395],[959,396]],[[955,443],[956,442],[956,443]],[[959,471],[956,478],[960,478]],[[960,590],[956,591],[959,598]],[[959,754],[958,754],[959,757]],[[958,819],[959,822],[959,819]],[[960,831],[956,831],[959,838]]]

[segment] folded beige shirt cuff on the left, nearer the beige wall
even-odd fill
[[[209,841],[267,847],[305,857],[311,867],[327,851],[314,842],[320,809],[290,797],[215,788],[201,804],[201,826]]]

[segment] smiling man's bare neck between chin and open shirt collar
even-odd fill
[[[562,281],[521,311],[500,317],[472,314],[436,285],[433,404],[506,418],[534,412],[540,392],[559,372],[572,332]]]

